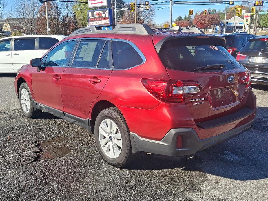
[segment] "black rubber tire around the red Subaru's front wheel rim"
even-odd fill
[[[26,91],[29,94],[29,98],[30,98],[30,109],[29,109],[28,112],[25,112],[23,110],[23,108],[22,108],[22,103],[21,103],[21,90],[22,89],[26,89]],[[23,82],[21,84],[21,86],[19,87],[19,104],[21,106],[21,111],[22,111],[23,115],[26,116],[26,117],[28,117],[28,118],[37,118],[41,114],[41,112],[42,112],[42,110],[36,109],[34,107],[34,105],[32,103],[32,94],[31,94],[30,89],[29,89],[29,87],[28,87],[28,85],[27,85],[26,82]]]

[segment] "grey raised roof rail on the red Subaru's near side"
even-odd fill
[[[111,30],[103,30],[103,28],[110,28]],[[104,26],[88,26],[85,28],[74,31],[70,36],[81,34],[138,34],[150,35],[154,31],[147,24],[117,24],[117,25],[104,25]]]

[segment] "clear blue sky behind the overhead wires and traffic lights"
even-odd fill
[[[8,10],[12,8],[12,3],[16,0],[8,0]],[[27,0],[25,0],[27,1]],[[37,0],[32,0],[37,1]],[[137,0],[139,1],[139,0]],[[150,0],[149,0],[150,1]],[[179,1],[179,0],[178,0]],[[188,1],[196,1],[196,0],[188,0]],[[130,3],[131,0],[125,0],[126,3]],[[157,3],[157,1],[150,1],[150,4]],[[156,16],[154,17],[154,21],[156,24],[162,24],[163,22],[169,20],[169,2],[161,3],[161,4],[167,4],[167,5],[155,5],[156,9]],[[267,3],[264,3],[263,8],[266,8]],[[167,7],[167,8],[165,8]],[[188,15],[189,9],[194,9],[194,12],[196,11],[202,11],[204,9],[208,8],[216,8],[218,11],[223,10],[225,8],[225,4],[216,4],[216,5],[174,5],[173,6],[173,12],[172,12],[172,19],[174,20],[176,17],[181,15],[181,17],[184,17],[186,14]],[[266,10],[266,9],[265,9]],[[150,10],[148,11],[150,12]]]

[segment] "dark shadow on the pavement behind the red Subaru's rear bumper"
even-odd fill
[[[267,115],[257,115],[255,125],[236,138],[184,158],[140,153],[126,169],[181,168],[185,171],[200,171],[234,180],[268,178],[268,108],[258,109]]]

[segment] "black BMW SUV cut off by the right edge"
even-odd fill
[[[251,72],[253,83],[268,85],[268,36],[256,36],[238,52],[236,60]]]

